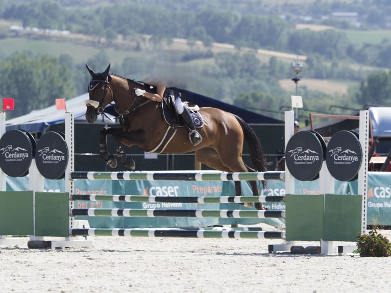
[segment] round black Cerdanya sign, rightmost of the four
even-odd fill
[[[362,150],[358,134],[341,130],[335,133],[326,151],[326,164],[332,177],[339,181],[352,181],[358,177]]]

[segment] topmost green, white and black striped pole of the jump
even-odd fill
[[[170,181],[249,181],[285,180],[284,171],[267,172],[70,172],[71,180],[170,180]]]

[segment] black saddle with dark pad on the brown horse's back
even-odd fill
[[[198,112],[200,107],[195,104],[189,104],[184,102],[185,107],[189,109],[190,115],[193,118],[195,128],[202,128],[204,126],[204,120],[202,119],[201,114]],[[173,95],[164,95],[161,102],[163,117],[166,123],[173,127],[185,127],[182,119],[179,118],[177,108],[175,107],[175,97]]]

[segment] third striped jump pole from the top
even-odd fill
[[[70,209],[72,216],[285,218],[285,211],[179,209]]]

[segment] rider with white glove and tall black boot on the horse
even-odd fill
[[[147,99],[150,99],[152,101],[161,102],[161,100],[163,99],[165,90],[166,90],[166,87],[164,85],[158,84],[156,86],[156,93],[152,93],[152,92],[140,89],[140,88],[135,88],[134,93],[136,95],[145,96]],[[180,94],[177,96],[174,95],[174,97],[175,97],[175,108],[177,109],[177,112],[178,112],[179,116],[181,117],[183,123],[190,130],[190,132],[189,132],[190,142],[194,146],[199,145],[202,141],[202,137],[201,137],[200,133],[197,130],[195,130],[194,121],[190,115],[189,110],[182,102]]]

